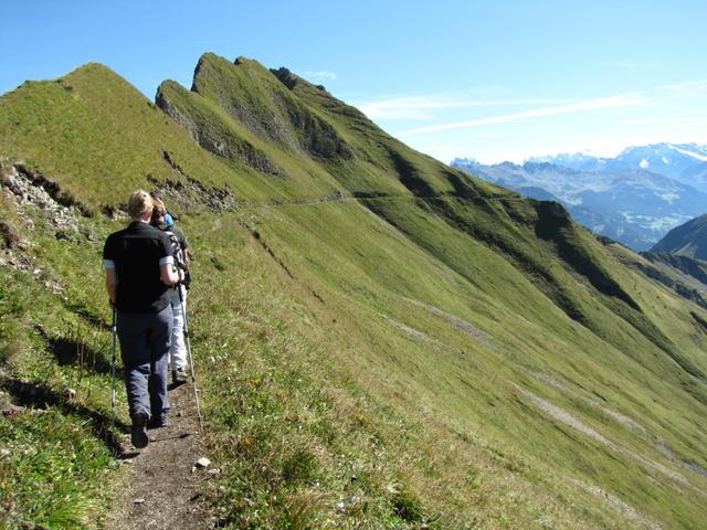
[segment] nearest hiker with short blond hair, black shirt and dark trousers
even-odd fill
[[[147,446],[147,426],[167,424],[167,363],[171,344],[171,286],[183,282],[169,236],[150,225],[154,201],[135,191],[130,224],[108,236],[103,250],[106,289],[117,312],[133,445]]]

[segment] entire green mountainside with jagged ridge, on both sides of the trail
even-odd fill
[[[44,430],[31,409],[0,418],[10,523],[84,528],[113,506],[99,253],[137,186],[192,242],[201,447],[220,469],[201,483],[208,523],[703,523],[707,310],[560,204],[450,169],[246,59],[203,55],[191,91],[162,83],[163,114],[98,65],[0,102],[0,384],[14,404],[44,407],[20,381],[54,396]],[[68,444],[40,443],[52,425],[86,441],[74,467]],[[31,444],[42,478],[17,470],[38,466]],[[50,475],[71,497],[30,495]]]

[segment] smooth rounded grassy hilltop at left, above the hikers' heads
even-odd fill
[[[232,182],[233,169],[250,174],[244,165],[228,168],[204,153],[135,87],[95,63],[3,95],[0,124],[6,156],[38,163],[49,176],[71,176],[62,188],[94,205],[124,202],[122,187],[148,188],[148,177],[180,180],[165,151],[178,153],[184,173],[209,188]],[[240,188],[249,190],[246,182]]]

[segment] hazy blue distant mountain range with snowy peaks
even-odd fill
[[[592,231],[636,251],[707,211],[707,146],[630,147],[615,158],[583,153],[486,166],[452,166],[525,197],[561,202]]]

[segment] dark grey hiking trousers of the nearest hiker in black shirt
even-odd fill
[[[167,364],[171,306],[159,312],[118,311],[117,325],[130,415],[144,412],[152,416],[169,410]]]

